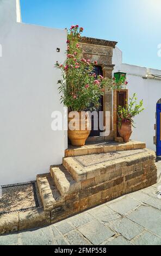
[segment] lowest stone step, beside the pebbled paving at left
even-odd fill
[[[51,211],[64,204],[65,199],[61,197],[50,174],[37,175],[37,183],[45,211]]]

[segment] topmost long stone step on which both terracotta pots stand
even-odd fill
[[[116,151],[134,150],[134,149],[144,149],[146,144],[143,142],[129,141],[127,143],[119,142],[88,142],[83,147],[69,146],[69,149],[65,150],[65,157],[71,156],[82,156],[82,155],[92,155],[101,154]]]

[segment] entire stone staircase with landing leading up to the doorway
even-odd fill
[[[156,154],[145,143],[90,142],[65,151],[63,165],[37,176],[51,223],[157,182]]]

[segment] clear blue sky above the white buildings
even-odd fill
[[[117,41],[123,62],[161,69],[161,0],[20,0],[24,23],[84,27],[84,36]]]

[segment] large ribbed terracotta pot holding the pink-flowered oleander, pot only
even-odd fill
[[[68,118],[68,137],[73,146],[84,146],[91,132],[91,121],[88,112],[70,112]],[[72,117],[73,115],[73,117]],[[75,118],[75,120],[73,120]],[[71,123],[70,123],[71,122]],[[75,130],[72,128],[74,124]],[[72,129],[72,130],[71,130]]]

